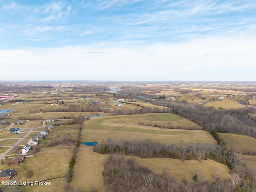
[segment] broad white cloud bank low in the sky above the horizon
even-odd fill
[[[2,69],[12,71],[13,80],[26,80],[31,73],[38,73],[34,80],[43,80],[45,74],[40,72],[45,68],[51,69],[47,76],[52,80],[128,80],[129,76],[130,80],[167,80],[173,73],[176,76],[186,74],[179,80],[195,80],[194,74],[200,74],[199,71],[209,73],[207,80],[214,80],[226,70],[237,70],[236,74],[232,74],[233,80],[240,80],[241,70],[248,70],[248,73],[256,71],[255,42],[256,38],[252,37],[212,38],[126,48],[67,46],[1,50],[0,57]],[[120,73],[122,76],[115,76]],[[9,73],[2,74],[1,78],[11,79]],[[221,76],[219,80],[228,79]]]

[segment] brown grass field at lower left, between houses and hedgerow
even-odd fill
[[[19,181],[42,181],[49,178],[56,178],[60,176],[65,176],[68,171],[68,163],[72,156],[72,149],[74,146],[55,146],[55,147],[39,147],[39,152],[34,154],[34,157],[28,157],[25,162],[19,166],[12,166],[12,169],[18,171],[19,174],[14,177],[14,180]],[[10,169],[8,159],[4,165],[1,166],[2,169]],[[33,170],[32,178],[26,179],[24,171],[28,168]],[[22,191],[62,191],[59,182],[64,183],[64,179],[50,180],[50,186],[24,186]],[[60,189],[60,190],[58,190]]]

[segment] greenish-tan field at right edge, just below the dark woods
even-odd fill
[[[218,133],[236,152],[256,152],[256,139],[246,135]]]

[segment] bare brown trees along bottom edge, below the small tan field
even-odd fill
[[[198,177],[201,173],[195,171]],[[230,179],[214,182],[196,180],[195,182],[179,181],[170,176],[166,168],[162,174],[156,174],[150,169],[139,166],[133,157],[125,160],[123,156],[109,155],[104,163],[104,189],[106,192],[234,192],[254,191],[254,180],[242,182],[237,173],[232,173]]]

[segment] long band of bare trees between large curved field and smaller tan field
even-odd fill
[[[184,143],[160,143],[152,140],[128,141],[122,139],[113,142],[108,139],[107,142],[95,145],[94,152],[139,156],[141,158],[174,158],[182,161],[197,159],[201,162],[203,159],[212,159],[228,165],[231,169],[234,167],[233,163],[238,161],[235,152],[229,150],[222,141],[218,142],[217,145],[207,143],[188,145]]]

